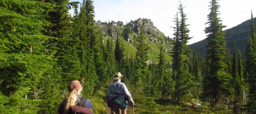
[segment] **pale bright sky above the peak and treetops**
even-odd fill
[[[83,0],[71,0],[79,1]],[[94,0],[94,20],[101,22],[130,22],[139,17],[151,19],[165,36],[173,38],[174,15],[178,11],[179,1],[182,2],[187,14],[187,24],[190,24],[188,44],[196,43],[206,38],[204,28],[207,27],[207,15],[210,13],[211,0]],[[232,28],[250,19],[251,10],[256,17],[256,0],[220,0],[220,15],[225,29]],[[72,13],[73,11],[70,11]]]

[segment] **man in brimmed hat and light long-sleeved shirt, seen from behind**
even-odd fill
[[[122,74],[120,72],[113,75],[114,82],[109,86],[106,93],[105,101],[108,102],[108,106],[111,108],[111,114],[120,114],[120,111],[122,111],[122,114],[126,114],[127,100],[131,102],[131,106],[134,106],[131,94],[125,84],[121,82],[121,79]]]

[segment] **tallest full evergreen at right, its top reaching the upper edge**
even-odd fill
[[[207,60],[206,60],[206,77],[204,78],[203,95],[210,99],[211,106],[217,105],[220,98],[231,95],[229,90],[230,79],[229,74],[225,73],[225,54],[226,54],[226,42],[224,39],[224,31],[222,28],[221,20],[218,17],[219,3],[218,0],[211,0],[210,14],[208,17],[209,24],[205,28],[207,35]]]

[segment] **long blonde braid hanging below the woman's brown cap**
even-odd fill
[[[64,112],[68,112],[68,110],[71,106],[76,105],[77,95],[78,95],[78,91],[76,89],[73,89],[69,93],[69,95],[66,97],[66,105],[65,105],[65,111]]]

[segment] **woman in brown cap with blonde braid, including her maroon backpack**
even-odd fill
[[[68,84],[68,96],[60,103],[57,114],[93,114],[92,103],[80,95],[82,86],[79,81]]]

